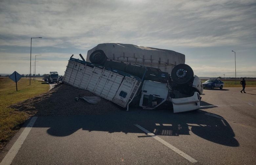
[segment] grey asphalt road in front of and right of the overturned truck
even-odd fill
[[[253,165],[256,88],[240,90],[204,90],[200,110],[178,114],[138,108],[107,115],[38,117],[12,164]]]

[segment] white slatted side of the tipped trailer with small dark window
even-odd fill
[[[121,75],[70,60],[63,82],[126,107],[137,93],[141,81],[134,76]]]

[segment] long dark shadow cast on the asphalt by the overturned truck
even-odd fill
[[[193,111],[173,114],[167,110],[132,109],[107,115],[51,116],[38,118],[34,127],[50,127],[47,133],[52,136],[69,136],[78,129],[86,131],[105,131],[109,133],[142,133],[134,126],[139,124],[156,135],[197,136],[218,144],[237,147],[238,141],[230,125],[224,120]],[[43,121],[41,121],[43,120]],[[139,136],[139,138],[147,137]]]

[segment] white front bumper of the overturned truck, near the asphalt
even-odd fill
[[[200,108],[200,95],[195,92],[193,96],[179,99],[172,99],[173,112],[186,112]]]

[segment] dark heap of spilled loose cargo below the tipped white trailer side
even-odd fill
[[[13,104],[10,107],[18,111],[24,111],[31,116],[106,114],[124,110],[122,107],[103,98],[95,105],[81,99],[75,101],[75,97],[78,96],[96,95],[61,83],[47,93]]]

